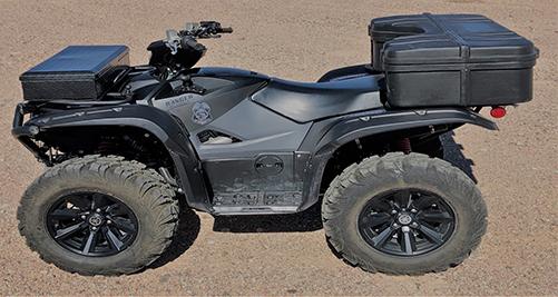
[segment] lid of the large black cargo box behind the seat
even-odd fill
[[[532,67],[538,50],[531,41],[479,14],[413,14],[373,19],[372,40],[385,42],[382,61],[390,66],[499,63]]]

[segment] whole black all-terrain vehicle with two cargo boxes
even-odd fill
[[[188,23],[129,66],[125,46],[71,46],[25,72],[13,136],[48,169],[23,194],[19,229],[68,271],[118,275],[154,263],[180,209],[275,215],[322,204],[326,240],[368,271],[423,274],[460,264],[487,209],[443,160],[440,136],[495,130],[532,97],[533,44],[476,14],[373,19],[372,62],[296,82],[194,68]]]

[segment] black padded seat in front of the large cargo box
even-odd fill
[[[297,122],[382,107],[379,80],[363,75],[335,81],[298,82],[272,78],[252,99]]]

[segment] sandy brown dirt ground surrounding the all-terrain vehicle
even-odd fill
[[[558,250],[558,1],[19,1],[0,0],[1,295],[556,295]],[[17,230],[23,189],[43,169],[10,136],[18,76],[75,43],[126,43],[131,62],[187,20],[216,19],[235,33],[205,42],[203,66],[315,80],[370,60],[371,18],[477,12],[540,48],[535,99],[456,140],[473,162],[489,207],[479,249],[457,268],[420,277],[368,274],[327,248],[316,211],[275,218],[187,218],[158,267],[133,276],[82,277],[41,261]],[[199,227],[200,225],[200,227]],[[195,239],[195,240],[194,240]]]

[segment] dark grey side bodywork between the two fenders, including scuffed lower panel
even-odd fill
[[[311,127],[251,100],[268,77],[228,68],[199,68],[189,73],[203,93],[161,91],[147,105],[165,110],[189,132],[215,214],[293,212],[302,204],[305,158],[295,154]],[[134,82],[141,86],[138,81]],[[173,85],[173,82],[170,83]],[[196,119],[203,105],[206,120]],[[204,143],[199,135],[215,131],[237,141]]]

